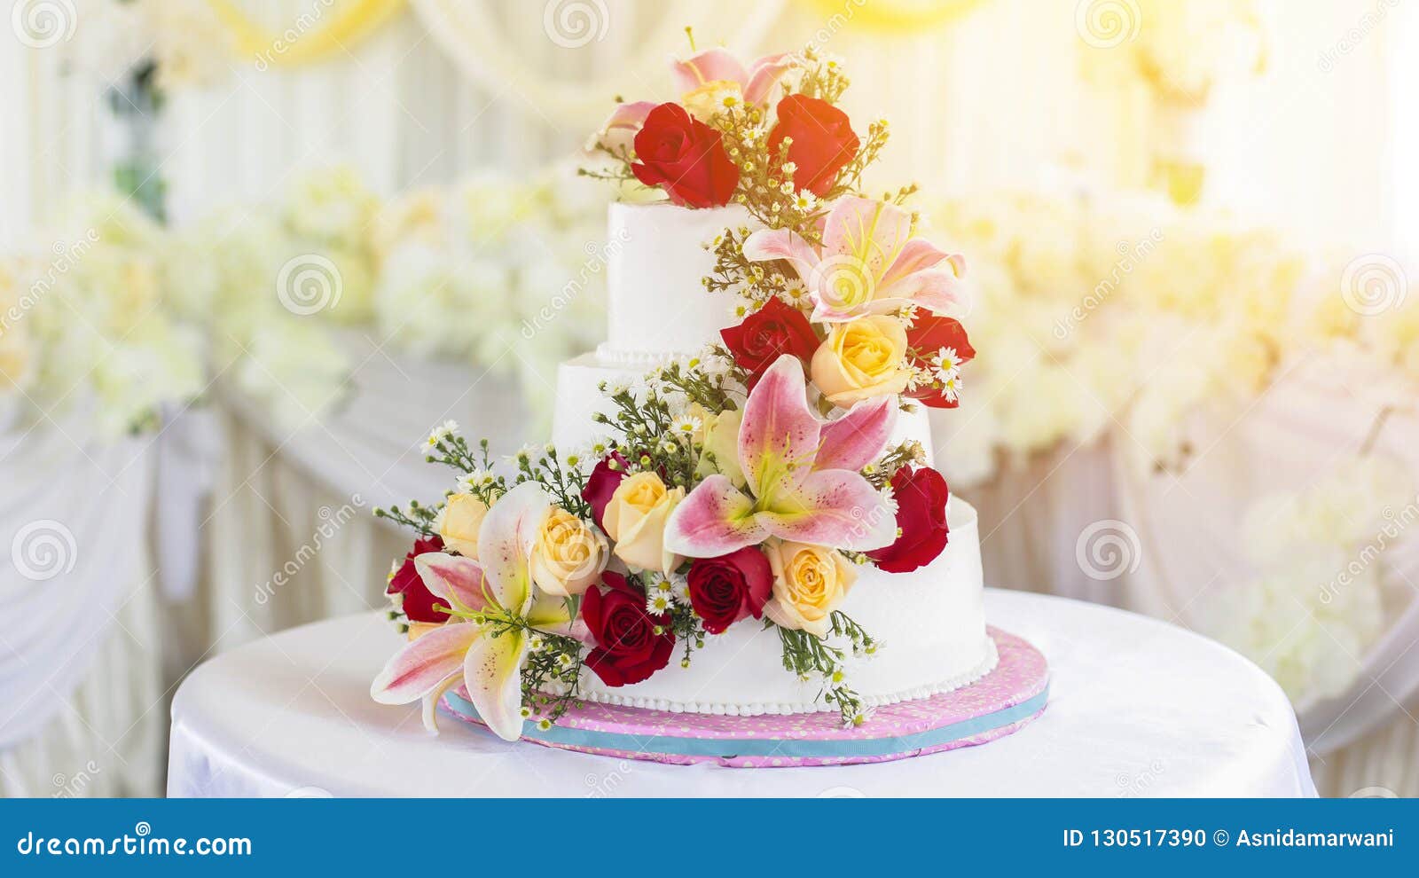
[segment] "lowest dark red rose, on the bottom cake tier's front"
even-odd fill
[[[609,591],[592,586],[582,597],[582,621],[596,648],[586,657],[589,667],[609,687],[624,687],[647,679],[670,664],[675,651],[675,633],[670,616],[651,616],[646,596],[620,573],[602,573]],[[660,627],[660,634],[656,633]]]

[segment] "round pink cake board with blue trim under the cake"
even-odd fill
[[[837,711],[719,716],[583,702],[551,729],[528,722],[522,739],[549,748],[671,765],[788,767],[891,762],[1003,738],[1044,711],[1049,664],[1020,637],[988,628],[999,662],[976,682],[877,708],[857,728]],[[482,725],[463,687],[443,698],[447,712]]]

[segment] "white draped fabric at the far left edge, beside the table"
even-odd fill
[[[0,796],[153,794],[166,705],[150,437],[0,433]]]

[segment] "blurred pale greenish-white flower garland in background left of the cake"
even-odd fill
[[[288,426],[339,404],[355,366],[342,332],[515,374],[545,423],[556,363],[604,322],[604,204],[556,167],[385,201],[335,166],[176,234],[167,282],[214,370]]]

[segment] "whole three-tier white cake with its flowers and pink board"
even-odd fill
[[[610,326],[511,467],[446,424],[390,573],[410,643],[375,679],[515,740],[667,762],[839,765],[1009,733],[1044,662],[988,631],[975,511],[925,407],[975,356],[962,257],[863,170],[887,142],[812,51],[674,65],[678,102],[593,139]],[[975,684],[975,685],[972,685]],[[971,687],[969,694],[959,689]],[[971,721],[971,722],[966,722]]]

